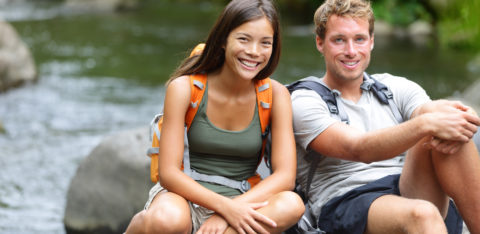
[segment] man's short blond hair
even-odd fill
[[[315,33],[321,39],[325,39],[327,21],[332,15],[350,16],[352,18],[367,19],[368,31],[373,34],[375,17],[370,2],[366,0],[325,0],[315,12]]]

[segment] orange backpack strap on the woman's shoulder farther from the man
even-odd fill
[[[197,114],[198,106],[202,101],[206,85],[206,74],[190,75],[190,106],[188,107],[187,113],[185,114],[185,126],[187,127],[187,130],[190,128],[190,125],[192,124],[193,119]]]

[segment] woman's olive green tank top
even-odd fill
[[[246,180],[255,174],[262,148],[258,106],[247,128],[229,131],[213,125],[207,117],[208,82],[205,94],[188,131],[190,166],[207,175],[220,175],[234,180]],[[225,110],[228,111],[228,110]],[[206,188],[224,196],[240,191],[213,183],[199,181]]]

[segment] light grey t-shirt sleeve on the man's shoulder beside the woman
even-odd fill
[[[305,150],[320,133],[340,122],[330,115],[327,104],[312,90],[294,91],[292,110],[295,140]]]

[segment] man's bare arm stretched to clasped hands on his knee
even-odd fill
[[[417,107],[410,120],[367,133],[335,123],[320,133],[309,147],[322,155],[370,163],[395,157],[424,137],[468,142],[480,119],[465,108],[453,101],[428,102]]]

